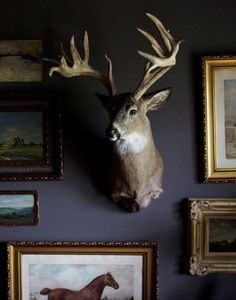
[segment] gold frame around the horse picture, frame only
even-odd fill
[[[142,299],[158,298],[158,246],[146,242],[10,242],[8,243],[8,299],[22,296],[22,259],[27,255],[128,255],[142,258]]]

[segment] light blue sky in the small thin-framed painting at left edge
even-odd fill
[[[33,195],[0,195],[0,208],[33,207]]]

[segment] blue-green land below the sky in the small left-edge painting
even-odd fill
[[[0,222],[33,222],[32,207],[10,208],[0,207]]]

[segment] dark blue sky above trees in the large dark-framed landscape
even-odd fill
[[[42,112],[0,112],[0,143],[13,143],[15,137],[42,143]]]

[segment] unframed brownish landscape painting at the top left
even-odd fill
[[[42,41],[0,41],[0,81],[42,80]]]

